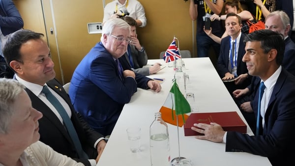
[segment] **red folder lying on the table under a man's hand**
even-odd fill
[[[236,111],[231,112],[206,112],[206,113],[191,113],[184,124],[184,136],[203,135],[191,129],[194,123],[215,122],[221,125],[224,131],[236,131],[247,133],[247,126],[239,117]]]

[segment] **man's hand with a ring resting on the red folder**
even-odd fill
[[[198,127],[192,127],[191,129],[193,131],[196,131],[198,133],[204,134],[204,136],[196,136],[198,139],[207,139],[212,142],[222,142],[223,136],[225,134],[225,131],[222,129],[222,127],[217,123],[195,123],[194,126]]]

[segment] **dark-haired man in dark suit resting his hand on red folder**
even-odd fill
[[[249,74],[260,77],[265,84],[261,107],[258,108],[259,90],[251,105],[255,116],[260,119],[259,132],[255,136],[225,132],[216,123],[194,124],[198,128],[193,127],[192,130],[205,134],[196,138],[225,142],[228,152],[265,156],[273,166],[290,165],[295,156],[295,76],[281,66],[284,37],[263,29],[246,35],[244,43],[246,54],[243,61],[247,64]]]

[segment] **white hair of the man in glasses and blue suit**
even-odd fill
[[[103,27],[102,27],[102,33],[101,33],[101,41],[103,41],[103,35],[110,35],[113,33],[115,28],[119,29],[127,29],[131,31],[131,28],[128,23],[126,23],[124,20],[119,19],[119,18],[110,18],[107,20]]]

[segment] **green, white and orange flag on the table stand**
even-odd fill
[[[185,113],[191,112],[191,108],[185,97],[180,92],[177,83],[174,81],[173,86],[168,94],[168,97],[161,107],[160,112],[162,114],[162,119],[172,125],[177,126],[178,116],[178,126],[182,126],[188,115]],[[182,119],[182,120],[181,120]]]

